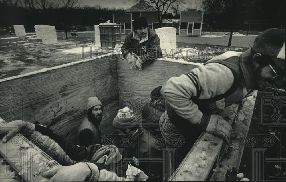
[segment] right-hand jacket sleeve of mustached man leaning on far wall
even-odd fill
[[[150,46],[146,53],[142,55],[142,61],[146,64],[151,64],[155,59],[162,57],[162,50],[160,46],[160,38],[156,34],[150,40]]]

